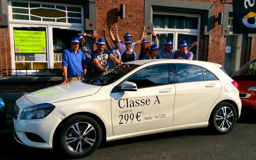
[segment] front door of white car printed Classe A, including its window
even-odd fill
[[[138,71],[127,81],[137,91],[111,93],[114,135],[172,126],[175,86],[169,65],[153,65]],[[169,80],[170,79],[170,80]]]

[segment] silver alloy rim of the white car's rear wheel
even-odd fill
[[[234,122],[234,113],[229,107],[222,107],[218,110],[215,122],[220,130],[229,129]]]

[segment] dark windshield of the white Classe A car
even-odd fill
[[[91,85],[106,86],[120,79],[138,66],[139,65],[134,64],[116,65],[101,74],[95,75],[89,79],[82,80],[81,82]]]

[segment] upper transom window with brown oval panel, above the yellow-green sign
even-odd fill
[[[82,24],[82,7],[11,2],[12,19]]]

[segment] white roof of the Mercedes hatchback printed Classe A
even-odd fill
[[[199,60],[186,60],[186,59],[145,59],[145,60],[136,60],[136,61],[130,61],[126,62],[124,64],[134,64],[134,65],[143,65],[146,63],[151,62],[159,62],[159,63],[186,63],[186,64],[193,64],[193,65],[199,65],[199,66],[205,66],[209,65],[210,62],[205,61],[199,61]],[[212,63],[217,65],[219,68],[222,67],[220,64]]]

